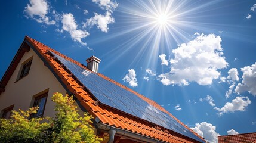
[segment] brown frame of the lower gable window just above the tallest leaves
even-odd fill
[[[39,117],[43,117],[44,116],[45,105],[47,104],[47,97],[48,97],[48,91],[44,92],[43,94],[40,94],[40,95],[34,97],[35,99],[33,100],[33,106],[32,107],[38,107],[38,105],[39,105],[38,101],[41,100],[42,98],[45,98],[44,107],[42,109],[42,114],[38,115],[38,113],[36,113],[36,114],[33,113],[33,114],[31,114],[30,119],[32,119],[32,118],[39,118]],[[40,108],[39,108],[39,110],[40,110]]]

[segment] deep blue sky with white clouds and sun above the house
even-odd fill
[[[25,35],[158,102],[210,142],[256,132],[256,1],[5,1],[0,76]]]

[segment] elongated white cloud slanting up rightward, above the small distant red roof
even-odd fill
[[[249,100],[248,97],[236,97],[232,100],[232,102],[227,102],[224,107],[217,108],[215,107],[215,110],[218,110],[220,113],[218,115],[223,115],[223,113],[227,112],[235,112],[235,111],[245,111],[246,107],[251,104],[251,100]]]

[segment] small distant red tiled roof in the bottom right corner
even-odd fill
[[[225,135],[225,136],[218,136],[218,143],[256,143],[256,132],[254,133],[241,133],[238,135]]]

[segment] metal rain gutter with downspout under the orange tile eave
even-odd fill
[[[105,132],[109,133],[109,141],[108,143],[112,143],[115,138],[115,134],[125,136],[136,141],[140,142],[152,142],[152,143],[162,143],[164,141],[159,141],[158,139],[153,139],[148,136],[140,135],[138,133],[130,132],[128,130],[115,128],[110,125],[106,125],[104,123],[97,123],[98,129],[104,130]]]

